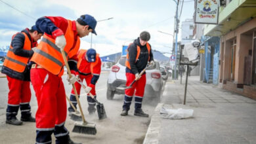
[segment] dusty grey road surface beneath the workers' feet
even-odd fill
[[[98,116],[91,116],[87,111],[87,99],[83,95],[81,90],[81,105],[83,107],[83,113],[85,113],[85,119],[89,122],[96,122],[96,135],[84,135],[72,133],[74,127],[74,121],[69,117],[66,119],[66,128],[70,131],[72,140],[81,143],[142,143],[148,124],[150,123],[150,117],[152,116],[157,103],[152,102],[150,99],[144,98],[142,109],[145,113],[148,113],[150,117],[142,118],[133,115],[134,103],[131,105],[131,110],[127,117],[121,117],[120,113],[123,105],[123,95],[116,95],[113,100],[106,99],[106,81],[108,79],[108,72],[103,71],[100,75],[100,79],[96,84],[97,99],[101,103],[104,103],[106,109],[106,115],[108,118],[104,120],[98,120]],[[72,86],[66,81],[66,75],[62,77],[66,88],[66,94],[69,96]],[[7,107],[7,94],[9,88],[7,86],[7,79],[0,79],[0,141],[1,143],[35,143],[35,123],[24,122],[22,126],[12,126],[5,124],[5,111]],[[37,109],[37,101],[35,93],[32,90],[32,115],[35,116]],[[150,101],[150,103],[149,103]],[[68,101],[67,101],[68,103]],[[148,104],[149,103],[149,104]],[[20,119],[20,111],[18,112],[18,119]],[[54,139],[54,135],[52,136]]]

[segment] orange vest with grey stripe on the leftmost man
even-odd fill
[[[24,50],[31,50],[32,44],[31,44],[30,38],[28,38],[28,35],[26,35],[26,33],[24,32],[21,32],[21,33],[23,33],[25,36],[25,41],[23,46]],[[12,36],[12,39],[15,37],[15,35]],[[5,58],[5,62],[3,62],[3,65],[19,73],[23,73],[28,64],[28,60],[30,60],[30,58],[17,56],[16,54],[14,54],[13,47],[11,45],[7,52],[7,57]]]

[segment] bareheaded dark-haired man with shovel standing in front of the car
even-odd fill
[[[148,43],[149,40],[150,33],[148,33],[148,31],[142,31],[140,33],[140,37],[135,39],[135,41],[127,48],[128,52],[125,62],[125,75],[127,78],[126,86],[129,86],[135,80],[135,78],[139,80],[133,84],[132,88],[127,88],[125,90],[125,98],[123,101],[123,111],[121,112],[121,116],[128,115],[133,95],[135,95],[134,115],[139,117],[148,117],[148,114],[144,113],[141,109],[144,88],[146,85],[146,72],[143,73],[141,77],[139,73],[146,67],[148,62],[154,65],[151,46]]]

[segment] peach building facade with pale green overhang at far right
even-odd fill
[[[204,35],[219,37],[219,86],[256,99],[256,1],[226,1],[219,24]]]

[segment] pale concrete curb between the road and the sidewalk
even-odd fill
[[[163,107],[163,105],[164,103],[158,103],[156,106],[154,114],[151,117],[150,125],[148,126],[143,144],[158,143],[158,137],[160,136],[161,128],[160,109]]]

